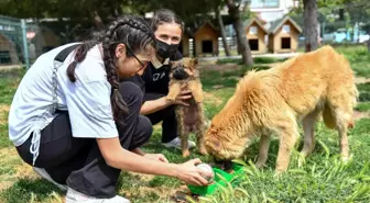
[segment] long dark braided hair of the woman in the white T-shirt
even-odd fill
[[[146,21],[140,16],[128,15],[113,21],[98,41],[85,42],[76,48],[74,61],[67,68],[67,76],[72,82],[76,81],[75,69],[77,64],[83,61],[87,52],[99,43],[102,43],[107,80],[112,87],[110,101],[113,116],[117,123],[122,124],[122,115],[128,112],[128,108],[119,92],[116,66],[118,58],[115,54],[117,45],[123,43],[133,53],[140,53],[151,46],[155,47],[154,34]],[[132,57],[130,52],[127,52],[127,56]]]

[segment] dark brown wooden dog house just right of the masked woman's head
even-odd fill
[[[195,56],[218,56],[218,36],[211,23],[202,24],[194,33]]]

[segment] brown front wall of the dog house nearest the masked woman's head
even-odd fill
[[[217,32],[209,26],[208,24],[199,27],[194,35],[195,38],[195,56],[205,56],[204,53],[202,53],[202,42],[203,41],[213,41],[213,55],[218,55],[218,34]],[[207,53],[208,54],[208,53]]]

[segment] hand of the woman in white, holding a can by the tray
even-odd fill
[[[187,184],[194,185],[208,185],[209,182],[204,177],[213,177],[208,171],[197,168],[196,165],[200,163],[200,159],[192,159],[187,162],[177,165],[177,178]]]

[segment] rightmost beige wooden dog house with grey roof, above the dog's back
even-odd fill
[[[273,22],[269,29],[269,50],[272,53],[294,53],[298,48],[302,29],[290,16]]]

